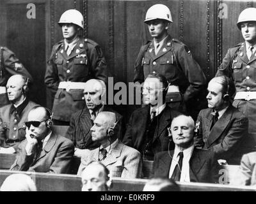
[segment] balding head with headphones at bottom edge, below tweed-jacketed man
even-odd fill
[[[82,173],[82,191],[109,191],[109,170],[102,163],[91,163]]]

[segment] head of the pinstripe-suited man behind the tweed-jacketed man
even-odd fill
[[[106,96],[106,85],[102,80],[91,79],[84,85],[84,99],[88,109],[93,110],[102,104]]]

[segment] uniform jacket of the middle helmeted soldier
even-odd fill
[[[152,41],[141,47],[135,63],[134,82],[144,82],[153,71],[164,75],[171,85],[179,86],[184,101],[195,97],[206,84],[205,75],[188,47],[171,36],[164,40],[157,55]],[[175,96],[170,99],[177,101]]]

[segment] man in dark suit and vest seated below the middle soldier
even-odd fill
[[[174,148],[168,140],[168,126],[179,112],[165,103],[168,82],[163,75],[152,73],[143,84],[144,107],[135,110],[124,136],[124,144],[139,150],[143,159],[153,160],[154,154]]]

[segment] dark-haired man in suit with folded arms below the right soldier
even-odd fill
[[[239,164],[248,151],[248,119],[231,104],[234,82],[225,76],[214,77],[207,89],[209,108],[198,115],[195,147],[213,150],[228,164]]]

